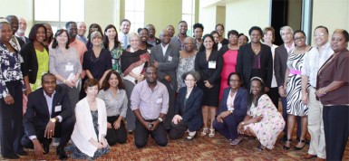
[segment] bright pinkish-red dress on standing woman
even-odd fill
[[[238,50],[228,50],[223,54],[223,70],[220,74],[219,100],[222,99],[223,90],[228,88],[228,76],[231,72],[236,71],[238,62]]]

